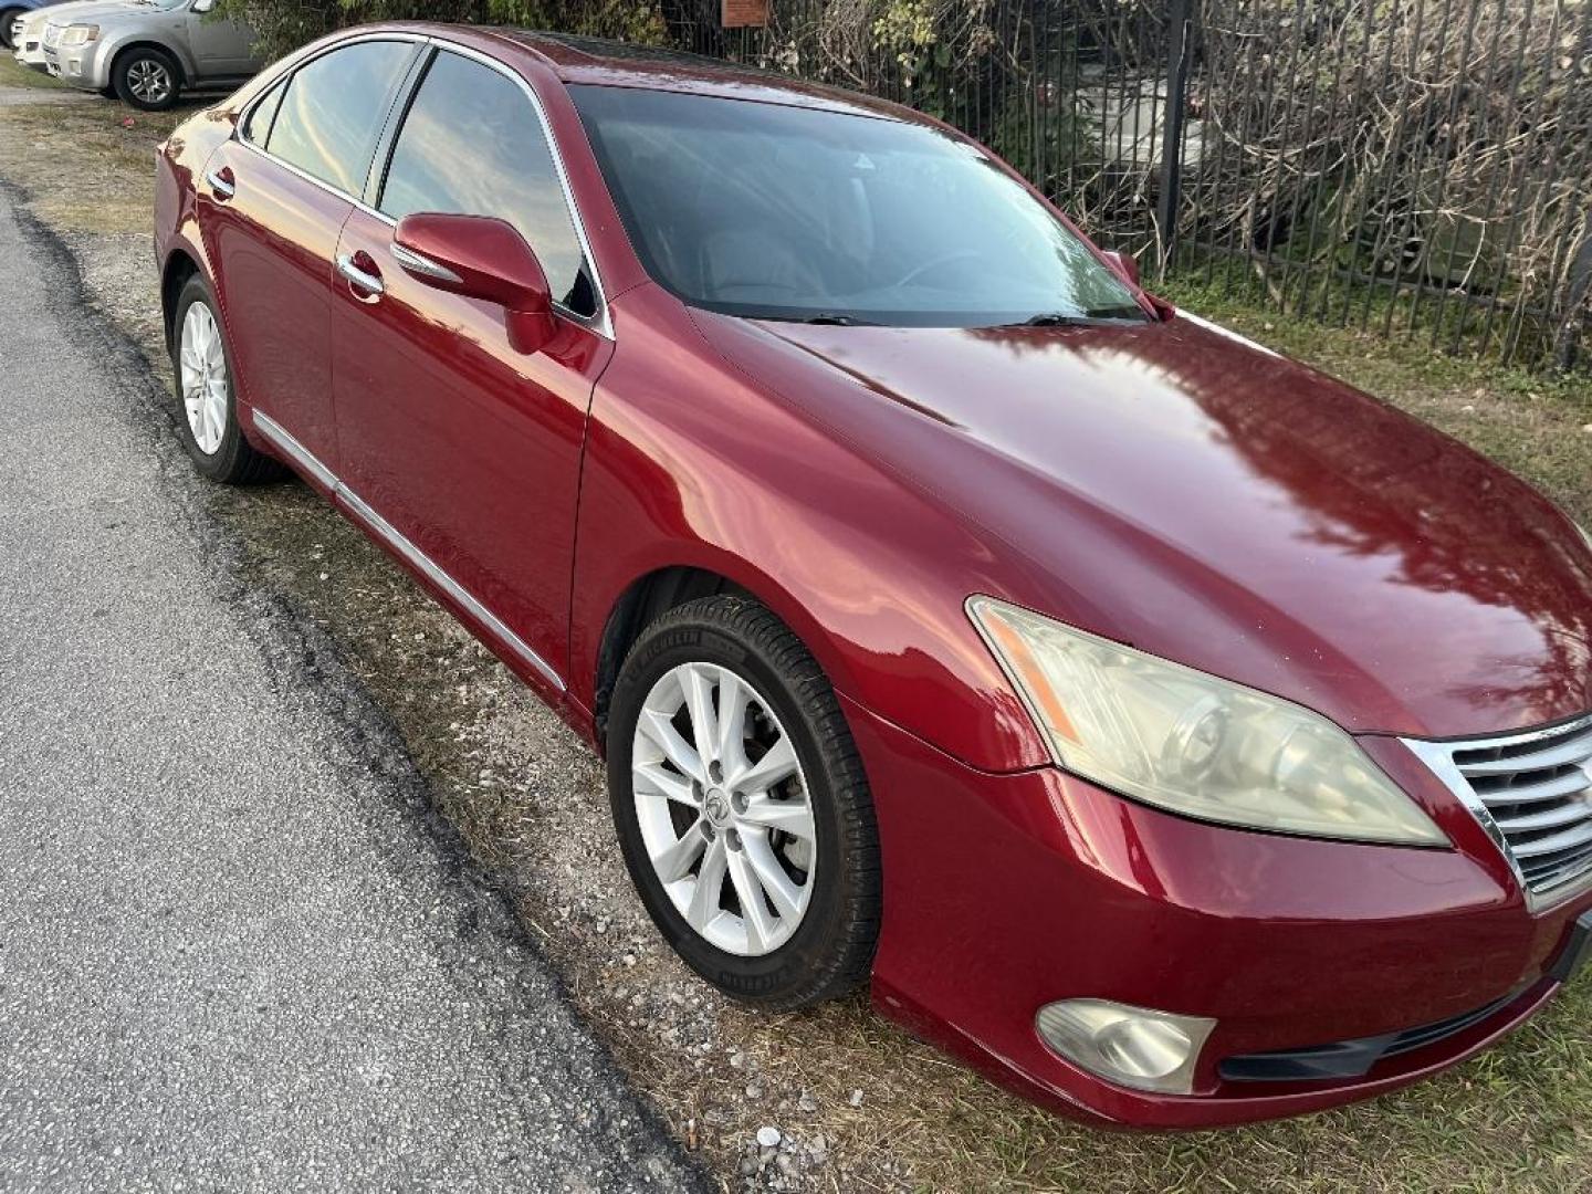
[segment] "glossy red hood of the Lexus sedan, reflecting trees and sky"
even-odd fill
[[[1188,315],[697,323],[970,519],[1009,560],[995,595],[1356,732],[1477,736],[1592,708],[1592,551],[1563,514],[1231,333]]]

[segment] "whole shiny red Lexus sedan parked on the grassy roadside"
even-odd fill
[[[384,25],[159,159],[180,420],[393,552],[608,763],[680,955],[1057,1111],[1474,1054],[1592,936],[1592,549],[1145,295],[919,113]]]

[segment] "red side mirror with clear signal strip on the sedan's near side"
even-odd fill
[[[503,220],[406,215],[393,229],[392,252],[417,282],[503,307],[516,352],[538,352],[557,331],[548,275],[525,237]]]

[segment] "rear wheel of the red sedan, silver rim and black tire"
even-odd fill
[[[220,312],[204,279],[197,274],[188,279],[177,296],[170,336],[183,447],[201,473],[224,486],[274,481],[285,470],[250,447],[237,425],[232,353],[226,345]],[[205,336],[207,325],[213,338]]]

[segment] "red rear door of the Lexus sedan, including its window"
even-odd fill
[[[417,53],[369,40],[312,59],[245,113],[197,180],[242,398],[267,435],[280,428],[331,470],[338,236]]]

